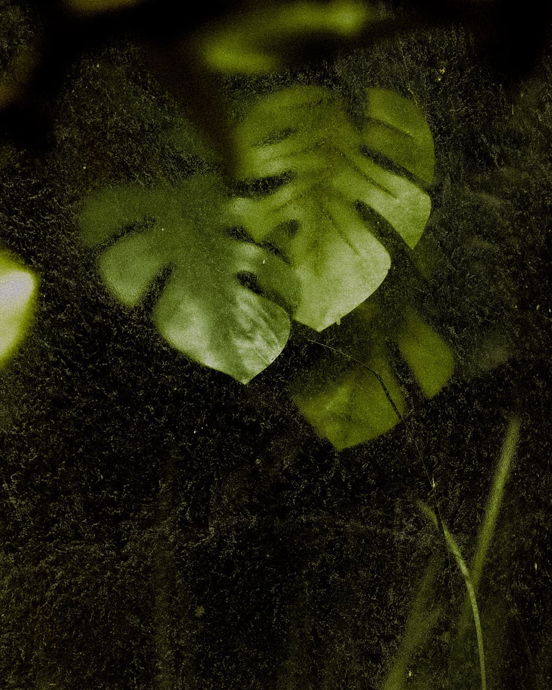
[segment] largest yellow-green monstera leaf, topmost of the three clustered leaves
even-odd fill
[[[420,110],[399,95],[367,92],[362,127],[335,93],[297,86],[259,100],[237,128],[242,181],[284,181],[238,197],[235,213],[256,242],[275,245],[295,268],[294,317],[322,331],[364,302],[386,277],[391,226],[405,248],[431,210],[433,139]],[[371,210],[371,221],[357,211]]]

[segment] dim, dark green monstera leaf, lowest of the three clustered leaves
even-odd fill
[[[442,390],[454,369],[451,348],[413,307],[403,306],[390,319],[376,293],[351,317],[342,340],[353,359],[334,350],[291,389],[300,411],[338,450],[380,436],[408,412],[389,342],[427,398]]]

